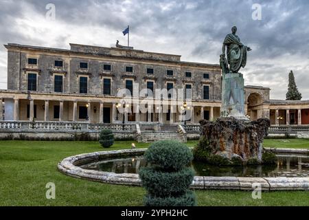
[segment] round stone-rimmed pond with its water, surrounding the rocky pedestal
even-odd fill
[[[143,155],[146,149],[102,151],[63,159],[58,170],[79,179],[106,184],[142,186],[139,168],[148,166]],[[275,166],[222,167],[194,163],[196,176],[191,188],[201,190],[309,190],[309,151],[275,149],[279,162]],[[297,154],[297,155],[295,155]]]

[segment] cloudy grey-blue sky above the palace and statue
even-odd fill
[[[46,19],[46,5],[56,19]],[[253,4],[262,9],[254,20]],[[135,49],[182,55],[182,61],[218,63],[222,41],[237,25],[249,45],[246,85],[271,87],[271,98],[284,99],[288,72],[309,99],[309,1],[99,1],[0,0],[0,43],[69,49],[69,43],[111,47],[130,25]],[[0,47],[0,88],[6,88],[7,52]]]

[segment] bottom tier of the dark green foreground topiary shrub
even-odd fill
[[[194,192],[191,190],[187,190],[185,195],[181,197],[153,197],[151,195],[147,195],[145,197],[146,206],[155,206],[155,207],[163,207],[163,206],[174,206],[174,207],[185,207],[185,206],[197,206],[196,198]]]

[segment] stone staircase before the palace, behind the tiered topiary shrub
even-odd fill
[[[160,126],[137,124],[137,141],[143,143],[157,142],[159,140],[178,140],[187,142],[187,133],[181,125]]]

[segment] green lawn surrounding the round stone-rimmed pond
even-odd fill
[[[295,146],[296,140],[290,144]],[[309,140],[299,140],[309,146]],[[116,142],[111,150],[130,148]],[[197,142],[189,142],[194,146]],[[266,145],[281,144],[266,140]],[[146,148],[148,144],[137,144]],[[284,142],[284,146],[288,146]],[[282,147],[282,146],[281,146]],[[143,188],[101,184],[59,173],[57,163],[80,153],[103,151],[98,142],[0,142],[0,206],[142,206]],[[56,199],[45,198],[48,182],[56,184]],[[308,206],[309,192],[265,192],[254,200],[251,192],[197,190],[200,206]]]

